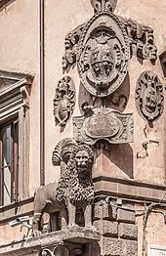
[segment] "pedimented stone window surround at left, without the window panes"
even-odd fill
[[[33,77],[27,74],[0,70],[0,129],[12,121],[19,123],[19,145],[14,146],[18,147],[18,183],[14,189],[17,196],[11,198],[11,203],[29,196],[29,95],[32,80]],[[16,160],[14,164],[16,170]],[[0,182],[2,183],[2,179]],[[0,207],[6,205],[8,204],[3,203],[1,195]]]

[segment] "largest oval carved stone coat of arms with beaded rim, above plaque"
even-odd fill
[[[127,74],[130,46],[123,25],[112,13],[99,12],[86,24],[79,44],[82,84],[94,96],[108,96]]]

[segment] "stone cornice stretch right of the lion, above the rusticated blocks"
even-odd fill
[[[166,202],[165,185],[100,176],[94,178],[94,186],[96,194],[107,194],[132,201]]]

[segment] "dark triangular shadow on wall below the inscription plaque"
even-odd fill
[[[98,151],[96,158],[98,158],[101,153],[130,179],[134,179],[133,149],[129,144],[109,145],[109,149]]]

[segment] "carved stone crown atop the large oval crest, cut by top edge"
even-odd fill
[[[100,11],[114,12],[117,0],[91,0],[91,5],[94,7],[95,13]]]

